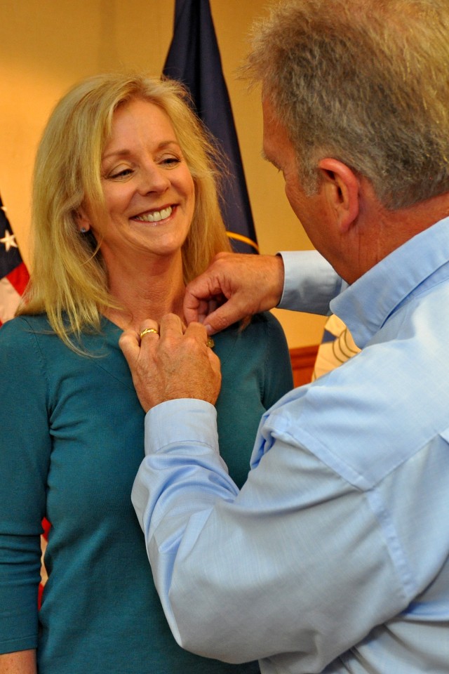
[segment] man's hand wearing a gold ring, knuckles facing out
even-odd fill
[[[119,345],[145,412],[176,398],[215,404],[221,385],[220,360],[207,341],[204,326],[192,323],[184,329],[174,314],[164,316],[160,327],[147,320],[140,333],[123,332]]]

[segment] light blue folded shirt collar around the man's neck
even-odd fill
[[[417,286],[449,261],[449,218],[390,253],[330,303],[363,348]]]

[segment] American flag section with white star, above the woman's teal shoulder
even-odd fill
[[[28,279],[0,197],[0,326],[13,317]]]

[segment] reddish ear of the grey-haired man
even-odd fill
[[[338,159],[326,157],[319,161],[323,190],[334,210],[341,232],[355,223],[359,210],[360,184],[354,171]]]

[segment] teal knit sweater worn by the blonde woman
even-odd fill
[[[0,329],[0,652],[37,648],[39,674],[256,673],[185,652],[163,616],[130,502],[144,413],[120,334],[104,319],[100,336],[83,338],[86,357],[44,316]],[[215,352],[220,451],[241,486],[262,413],[293,386],[288,348],[263,314],[215,336]]]

